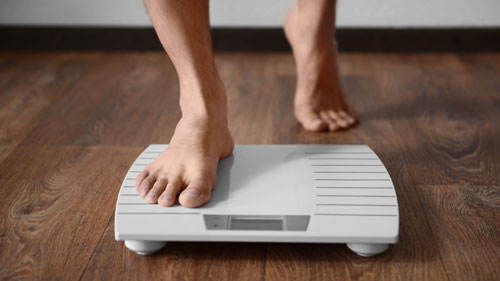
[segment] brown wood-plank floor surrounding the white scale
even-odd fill
[[[343,53],[361,122],[301,130],[288,53],[224,53],[237,144],[368,144],[399,199],[400,242],[170,243],[142,257],[114,240],[129,165],[167,143],[178,82],[153,53],[0,53],[2,280],[499,280],[500,54]]]

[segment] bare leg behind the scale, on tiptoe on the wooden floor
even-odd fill
[[[306,130],[336,131],[356,122],[337,66],[335,0],[298,0],[285,22],[297,63],[295,116]]]

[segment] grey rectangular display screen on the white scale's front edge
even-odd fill
[[[208,230],[306,231],[309,215],[203,215]]]

